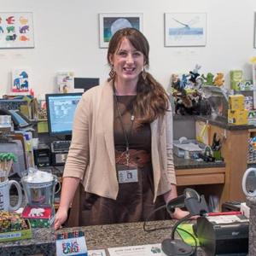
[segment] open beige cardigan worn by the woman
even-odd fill
[[[113,87],[106,82],[87,90],[76,109],[73,138],[63,177],[79,177],[87,192],[116,199],[113,142]],[[172,112],[156,119],[151,127],[154,200],[176,184],[172,158]]]

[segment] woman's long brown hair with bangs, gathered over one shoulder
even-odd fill
[[[148,40],[142,32],[130,27],[120,29],[113,34],[108,44],[108,64],[111,66],[111,56],[119,49],[123,38],[127,38],[135,49],[143,53],[145,67],[148,69]],[[110,80],[114,80],[114,76],[108,79],[108,81]],[[150,73],[143,71],[137,82],[137,98],[133,103],[133,111],[137,121],[141,124],[153,122],[154,119],[166,113],[169,104],[166,90]]]

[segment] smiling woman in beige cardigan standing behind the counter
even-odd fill
[[[111,38],[109,79],[86,91],[76,110],[55,229],[67,219],[79,183],[73,225],[143,221],[177,196],[172,112],[165,90],[145,71],[148,51],[134,28]],[[172,218],[187,214],[176,209]]]

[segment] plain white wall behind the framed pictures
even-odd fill
[[[251,79],[248,60],[253,49],[255,0],[0,0],[1,12],[33,13],[34,49],[0,49],[0,96],[9,93],[10,71],[30,67],[35,96],[56,91],[55,73],[74,71],[77,77],[108,77],[107,49],[99,48],[99,13],[143,13],[150,69],[165,87],[171,73],[201,73],[242,69]],[[164,47],[164,13],[207,13],[207,46]]]

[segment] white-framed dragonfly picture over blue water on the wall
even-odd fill
[[[165,46],[205,46],[207,14],[165,14]]]

